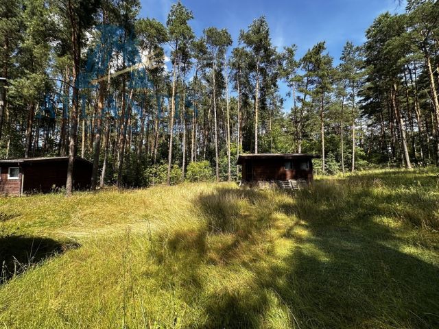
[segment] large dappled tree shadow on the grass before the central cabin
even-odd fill
[[[392,186],[392,178],[376,178],[316,182],[296,197],[227,187],[200,195],[194,204],[206,227],[167,236],[158,251],[167,273],[163,287],[172,282],[187,304],[201,304],[206,328],[270,321],[298,328],[438,328],[438,265],[412,252],[419,245],[403,235],[416,230],[409,223],[394,228],[380,221],[400,217],[391,211],[397,195],[374,192],[376,184]],[[411,194],[416,191],[404,197],[416,202]],[[279,241],[290,246],[281,254]],[[429,252],[438,255],[436,247]],[[206,265],[224,272],[214,293]]]

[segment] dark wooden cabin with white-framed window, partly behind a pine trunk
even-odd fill
[[[68,156],[0,160],[0,194],[22,195],[62,188],[66,185],[68,164]],[[75,158],[73,188],[89,188],[92,169],[93,162]]]

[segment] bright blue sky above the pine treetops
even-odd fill
[[[171,0],[141,0],[141,17],[154,17],[166,23]],[[337,64],[346,40],[355,45],[364,42],[364,32],[379,14],[402,12],[405,3],[395,0],[182,0],[192,10],[191,26],[197,36],[205,27],[226,28],[233,36],[234,46],[241,29],[253,19],[265,15],[270,25],[273,44],[281,50],[296,44],[300,58],[316,42],[326,40],[327,50]],[[287,88],[280,84],[285,98]],[[286,99],[289,110],[292,101]]]

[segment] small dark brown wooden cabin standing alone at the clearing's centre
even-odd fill
[[[313,181],[312,154],[241,154],[241,184],[301,188]]]

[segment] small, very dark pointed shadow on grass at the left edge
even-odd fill
[[[40,236],[0,236],[0,284],[43,260],[80,247]]]

